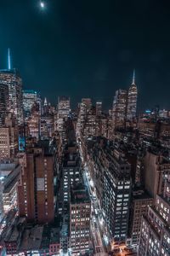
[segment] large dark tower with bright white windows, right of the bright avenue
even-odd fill
[[[113,155],[107,152],[105,165],[102,201],[105,223],[115,241],[125,241],[131,191],[130,165],[116,149]]]

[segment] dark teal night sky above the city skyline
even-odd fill
[[[0,0],[0,68],[20,70],[25,89],[102,100],[111,108],[136,69],[139,109],[170,108],[170,1]]]

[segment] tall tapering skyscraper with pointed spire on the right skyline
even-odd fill
[[[136,117],[138,90],[135,84],[135,71],[133,71],[133,83],[127,92],[127,120],[132,121]]]

